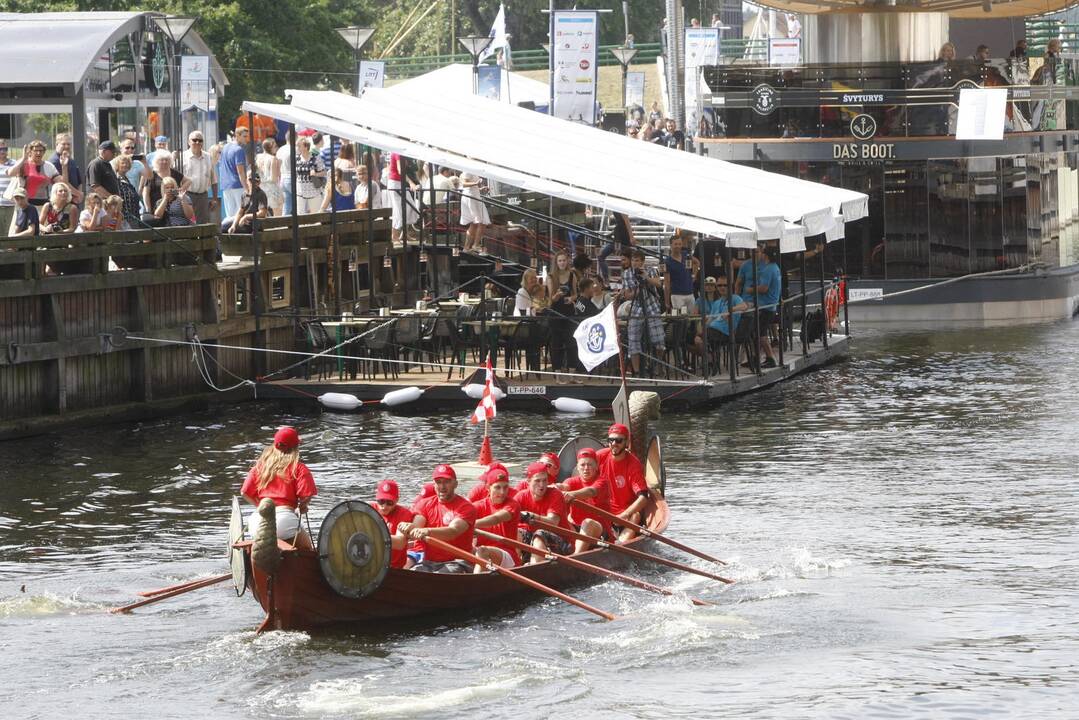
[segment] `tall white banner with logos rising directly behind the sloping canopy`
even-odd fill
[[[552,19],[551,84],[552,114],[589,125],[596,123],[599,63],[599,13],[559,10]]]

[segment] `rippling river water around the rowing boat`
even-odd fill
[[[257,637],[229,585],[228,503],[295,423],[319,516],[411,494],[479,431],[248,405],[0,444],[0,708],[64,718],[1075,718],[1079,325],[856,338],[850,362],[664,419],[669,534],[737,584],[623,585],[424,630]],[[503,413],[528,459],[602,418]],[[674,554],[671,557],[683,559]],[[699,560],[688,558],[701,563]],[[658,598],[658,599],[657,599]]]

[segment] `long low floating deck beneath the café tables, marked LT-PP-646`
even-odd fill
[[[628,385],[631,391],[647,390],[659,393],[665,410],[699,408],[764,390],[795,375],[844,359],[848,349],[847,336],[833,335],[828,339],[827,348],[822,343],[816,342],[809,347],[807,355],[803,355],[801,349],[793,354],[786,353],[782,365],[762,370],[761,375],[739,367],[738,376],[734,382],[730,381],[729,373],[724,372],[708,380],[680,378],[679,384],[673,384],[666,378],[658,380],[631,378]],[[468,397],[461,390],[461,384],[464,381],[463,376],[468,373],[453,369],[452,377],[447,379],[448,371],[447,367],[438,370],[428,365],[423,368],[412,367],[408,371],[399,372],[396,378],[392,375],[387,378],[380,372],[379,377],[373,380],[339,379],[334,372],[332,377],[326,377],[322,380],[312,377],[308,380],[299,378],[262,382],[258,386],[258,395],[260,398],[268,399],[316,403],[317,397],[324,393],[345,393],[364,400],[365,406],[361,407],[370,407],[391,391],[414,385],[424,391],[420,399],[397,406],[394,408],[395,410],[422,412],[443,407],[475,407],[477,400]],[[508,376],[500,373],[498,379],[506,384],[506,397],[498,400],[500,410],[550,409],[551,400],[559,397],[579,398],[588,400],[597,408],[609,408],[618,391],[617,380],[596,379],[579,375],[568,376],[563,373],[556,377],[547,373],[540,376],[529,373],[527,377],[520,378],[516,371],[511,371]],[[672,377],[671,380],[673,381],[674,378]]]

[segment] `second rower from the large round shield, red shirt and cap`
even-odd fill
[[[436,538],[472,553],[476,508],[456,494],[457,474],[450,465],[436,465],[431,479],[435,483],[435,494],[419,500],[412,506],[412,522],[402,524],[404,530],[412,540]],[[401,530],[401,526],[398,529]],[[412,569],[420,572],[472,572],[473,563],[425,543],[423,561]]]

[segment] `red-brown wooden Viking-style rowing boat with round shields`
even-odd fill
[[[576,438],[563,454],[575,456],[596,440]],[[660,497],[648,512],[647,530],[667,528],[669,507],[661,498],[665,486],[658,438],[648,444],[644,462],[650,487]],[[563,463],[565,466],[566,463]],[[347,501],[331,511],[318,532],[317,551],[292,548],[277,541],[279,565],[268,572],[252,557],[251,541],[242,541],[243,519],[234,502],[230,538],[233,583],[237,594],[250,590],[267,613],[260,629],[315,630],[331,626],[359,626],[374,630],[396,622],[445,622],[448,614],[504,611],[540,599],[543,594],[519,580],[496,572],[442,574],[388,567],[390,534],[381,516],[364,501]],[[632,562],[619,552],[641,551],[657,543],[638,535],[625,545],[603,546],[514,572],[527,581],[557,590],[599,582],[602,576],[570,565],[573,560],[617,570]]]

